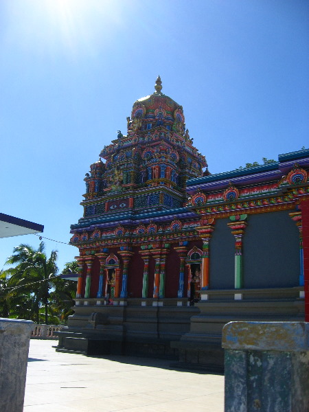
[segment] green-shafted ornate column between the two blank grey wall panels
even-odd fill
[[[242,279],[242,238],[244,236],[244,229],[246,229],[248,222],[247,215],[230,216],[227,225],[231,228],[231,233],[236,240],[235,251],[235,288],[241,289],[243,284]]]

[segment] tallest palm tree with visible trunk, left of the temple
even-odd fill
[[[16,265],[10,269],[10,285],[32,295],[32,312],[36,314],[36,323],[40,322],[40,308],[45,309],[45,323],[48,323],[49,291],[54,286],[58,272],[56,265],[57,251],[52,251],[49,258],[45,253],[45,244],[41,242],[38,249],[28,244],[20,244],[13,250],[7,264]]]

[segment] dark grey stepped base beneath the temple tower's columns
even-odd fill
[[[75,307],[68,327],[58,332],[58,351],[176,360],[178,350],[171,348],[170,342],[179,341],[189,331],[190,318],[199,312],[194,307],[177,306],[179,299],[127,299],[122,306],[98,306],[96,299],[93,305],[89,299],[87,302],[87,306]]]

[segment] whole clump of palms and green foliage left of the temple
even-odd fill
[[[56,265],[57,251],[47,257],[45,244],[15,247],[0,273],[0,317],[32,319],[36,323],[65,323],[73,313],[76,282],[62,279]],[[62,273],[77,273],[78,264],[68,262]]]

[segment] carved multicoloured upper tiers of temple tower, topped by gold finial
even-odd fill
[[[133,104],[128,132],[104,146],[85,177],[84,217],[182,207],[186,181],[202,176],[205,157],[192,145],[183,108],[161,93]]]

